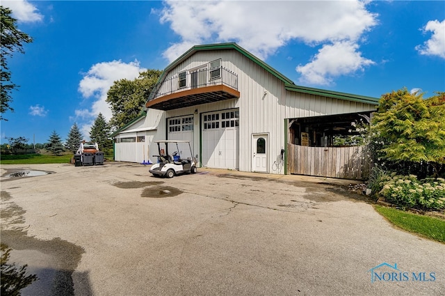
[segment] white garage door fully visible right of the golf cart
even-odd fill
[[[202,114],[202,165],[238,169],[238,138],[238,109]]]

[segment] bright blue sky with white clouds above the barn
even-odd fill
[[[118,79],[193,45],[237,42],[296,84],[380,98],[445,91],[445,1],[2,1],[33,37],[8,59],[15,109],[1,143],[88,139]]]

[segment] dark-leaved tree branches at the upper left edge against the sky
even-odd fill
[[[11,17],[12,11],[9,8],[0,6],[1,10],[1,104],[0,104],[0,120],[7,120],[3,117],[3,114],[10,110],[14,111],[13,107],[10,107],[10,103],[13,102],[13,98],[10,93],[17,89],[17,85],[11,82],[11,72],[8,68],[6,58],[13,56],[14,52],[24,53],[24,43],[33,41],[33,38],[26,33],[17,29],[15,18]]]

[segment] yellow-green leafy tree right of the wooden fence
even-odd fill
[[[382,95],[372,120],[377,156],[396,164],[428,164],[437,173],[445,164],[444,114],[445,93],[426,100],[406,88]]]

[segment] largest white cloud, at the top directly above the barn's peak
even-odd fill
[[[359,40],[376,24],[362,1],[165,1],[161,23],[181,38],[164,56],[173,61],[193,45],[237,42],[260,59],[289,40],[308,45]]]

